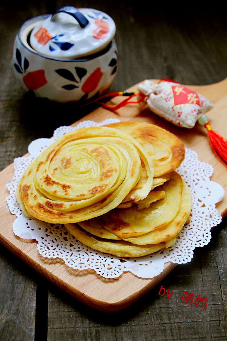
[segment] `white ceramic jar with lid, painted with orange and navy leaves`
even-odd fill
[[[101,95],[117,71],[114,34],[113,20],[93,9],[65,6],[30,19],[14,42],[15,75],[24,89],[57,102]]]

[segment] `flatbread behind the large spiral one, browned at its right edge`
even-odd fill
[[[175,170],[184,159],[184,145],[181,140],[167,130],[154,124],[143,122],[119,122],[109,124],[134,137],[147,151],[154,166],[154,177]]]

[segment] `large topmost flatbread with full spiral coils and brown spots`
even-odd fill
[[[27,216],[64,224],[109,212],[132,189],[132,200],[141,200],[152,182],[152,161],[134,138],[115,128],[81,128],[28,166],[16,198]]]

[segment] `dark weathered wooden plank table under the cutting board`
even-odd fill
[[[109,91],[146,78],[206,85],[227,77],[227,23],[220,8],[196,3],[183,9],[173,1],[146,6],[95,0],[5,3],[0,8],[1,169],[25,154],[32,140],[51,137],[55,128],[95,109],[35,99],[14,78],[11,50],[18,29],[62,5],[97,8],[115,20],[119,68]],[[224,219],[212,231],[211,242],[195,250],[191,263],[178,265],[125,310],[103,313],[67,295],[1,246],[0,340],[227,340],[226,249]],[[168,300],[159,295],[161,285],[173,291]],[[206,310],[181,302],[184,291],[206,296]]]

